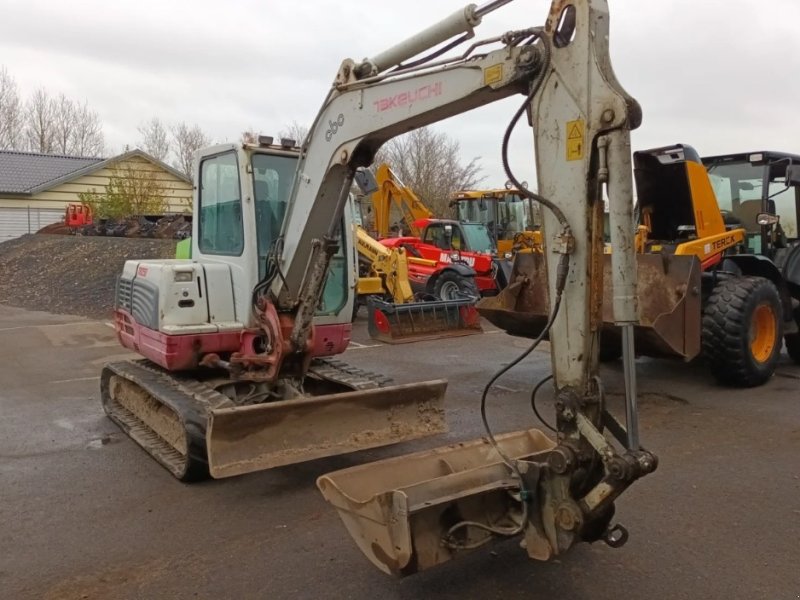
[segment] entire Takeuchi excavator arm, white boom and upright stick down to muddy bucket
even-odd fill
[[[523,193],[548,209],[544,252],[535,257],[547,286],[534,282],[542,290],[546,323],[512,366],[548,336],[556,439],[536,430],[492,433],[488,392],[510,368],[504,367],[481,398],[485,439],[318,480],[361,550],[387,573],[415,573],[513,536],[524,536],[529,556],[540,560],[580,541],[621,545],[627,533],[612,525],[614,501],[657,466],[656,457],[639,444],[633,370],[637,305],[630,130],[639,125],[641,112],[616,80],[608,40],[606,0],[554,0],[543,28],[494,40],[504,44],[498,51],[442,61],[419,73],[385,74],[393,61],[378,61],[376,68],[369,61],[345,61],[314,124],[289,219],[289,226],[302,231],[297,239],[306,242],[286,245],[287,285],[273,290],[281,308],[298,307],[295,333],[303,331],[303,294],[314,297],[314,282],[299,266],[312,265],[311,272],[313,265],[324,264],[325,240],[313,233],[312,221],[338,214],[353,170],[368,164],[393,135],[523,94],[504,137],[504,165],[522,190],[508,164],[507,145],[513,125],[527,113],[539,193]],[[380,56],[387,54],[395,51]],[[369,76],[360,78],[363,73]],[[610,282],[603,281],[604,193],[614,247]],[[321,230],[318,225],[316,231]],[[512,282],[507,293],[527,284]],[[625,332],[627,428],[607,410],[598,370],[604,287],[613,288],[614,320]]]

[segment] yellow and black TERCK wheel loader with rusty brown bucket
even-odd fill
[[[773,375],[784,339],[797,361],[800,158],[752,152],[701,159],[691,146],[675,145],[635,152],[633,160],[637,353],[702,356],[717,381],[739,387]],[[509,333],[535,336],[531,320],[540,327],[546,315],[546,293],[536,285],[542,269],[541,256],[518,256],[516,287],[481,302],[479,312]],[[611,269],[608,254],[605,269]],[[515,322],[520,305],[536,316]],[[610,313],[604,321],[599,352],[613,360],[621,355],[620,330]]]

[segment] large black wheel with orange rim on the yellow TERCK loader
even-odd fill
[[[721,281],[703,309],[703,355],[719,383],[753,387],[767,381],[782,336],[781,299],[763,277]]]

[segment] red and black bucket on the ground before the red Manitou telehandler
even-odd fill
[[[483,333],[474,298],[391,304],[367,298],[369,335],[387,344],[403,344]]]

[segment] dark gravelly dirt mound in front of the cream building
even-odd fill
[[[172,239],[25,235],[0,243],[0,304],[105,319],[126,260],[174,256]]]

